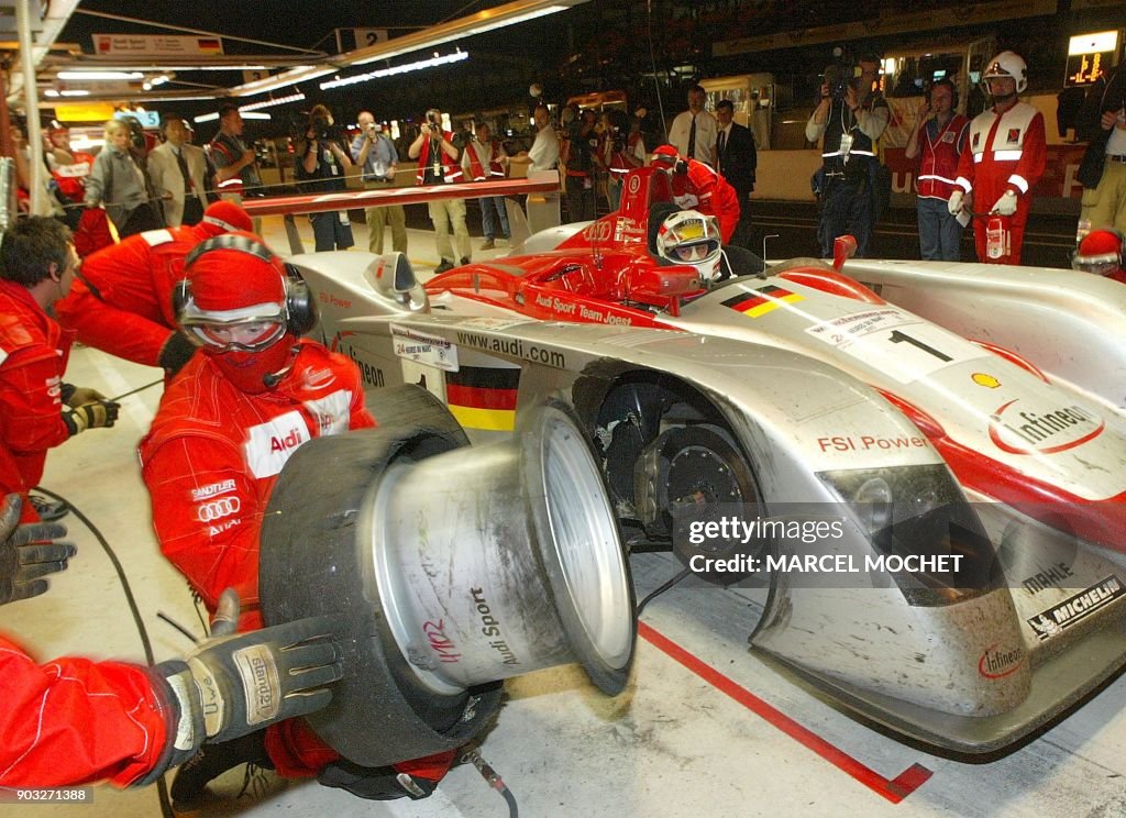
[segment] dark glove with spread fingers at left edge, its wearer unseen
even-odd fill
[[[18,494],[9,494],[0,504],[0,605],[44,593],[43,577],[66,570],[66,560],[77,550],[73,543],[56,541],[66,536],[59,523],[17,525],[21,505]]]

